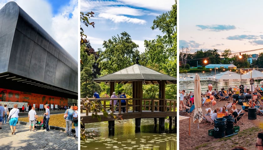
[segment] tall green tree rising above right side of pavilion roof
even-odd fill
[[[168,75],[176,76],[177,73],[177,2],[172,6],[172,10],[157,16],[153,21],[152,29],[159,29],[164,33],[158,35],[156,40],[144,41],[146,47],[145,56],[147,66],[159,68],[158,71]]]

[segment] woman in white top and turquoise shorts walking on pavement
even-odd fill
[[[12,135],[15,134],[15,131],[16,131],[16,123],[18,121],[18,113],[19,113],[18,105],[14,104],[14,108],[11,109],[11,111],[9,112],[9,116],[8,116]]]

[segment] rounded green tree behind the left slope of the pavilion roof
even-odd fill
[[[105,71],[104,73],[109,74],[131,66],[139,56],[138,47],[127,32],[122,32],[121,37],[113,36],[103,42],[105,51],[101,52],[101,57],[98,59],[99,67]]]

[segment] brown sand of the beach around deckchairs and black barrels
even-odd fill
[[[232,101],[229,101],[230,103]],[[186,103],[186,100],[184,100],[184,103]],[[216,107],[223,107],[225,104],[227,103],[227,101],[217,101],[216,100],[216,104],[213,106],[213,108],[215,109]],[[241,105],[236,105],[237,108],[241,108]],[[202,111],[203,114],[206,113],[205,108],[209,108],[210,106],[208,105],[207,107],[202,106]],[[211,107],[212,108],[212,107]],[[184,108],[183,108],[184,109]],[[231,147],[233,146],[243,146],[247,149],[253,150],[256,149],[255,148],[255,142],[256,142],[256,133],[258,131],[263,131],[262,129],[262,122],[263,122],[263,115],[259,116],[257,115],[257,119],[256,120],[249,120],[248,119],[248,113],[246,113],[243,116],[243,120],[244,120],[244,124],[241,124],[239,122],[239,126],[240,126],[240,132],[252,128],[252,127],[257,127],[257,131],[255,131],[254,135],[243,135],[244,137],[240,137],[240,134],[234,135],[229,137],[229,141],[227,140],[220,140],[220,138],[214,138],[212,136],[208,135],[208,130],[210,129],[214,129],[214,125],[212,125],[211,127],[207,127],[204,125],[204,121],[202,121],[199,124],[199,130],[198,128],[198,124],[193,124],[193,116],[189,116],[189,115],[185,115],[187,117],[191,117],[190,118],[190,136],[188,135],[188,129],[189,129],[189,119],[183,119],[179,121],[179,149],[180,150],[190,150],[190,149],[213,149],[213,150],[223,150],[223,149],[231,149]],[[234,123],[234,126],[237,126]],[[259,126],[261,126],[261,128],[258,128]],[[254,128],[253,128],[254,129]],[[245,140],[243,138],[246,138]],[[231,140],[231,139],[235,139],[235,140]],[[244,141],[243,141],[244,140]],[[240,141],[240,142],[238,142]],[[229,143],[229,144],[226,144]],[[203,146],[200,146],[202,145]],[[213,145],[212,147],[209,146]],[[206,146],[207,145],[207,146]],[[200,146],[200,147],[197,147]],[[229,148],[230,146],[230,148]]]

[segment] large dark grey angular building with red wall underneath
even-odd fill
[[[0,10],[0,53],[0,100],[77,104],[77,61],[15,2]]]

